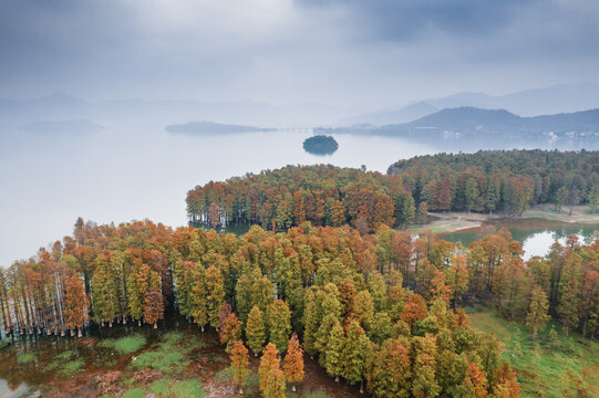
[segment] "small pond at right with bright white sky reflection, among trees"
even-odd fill
[[[578,235],[581,242],[591,243],[599,231],[599,224],[521,219],[488,221],[481,228],[441,233],[440,237],[452,242],[462,242],[463,245],[467,247],[488,233],[497,232],[500,228],[507,228],[512,237],[523,243],[525,260],[534,255],[546,255],[554,242],[558,241],[564,244],[570,234]]]

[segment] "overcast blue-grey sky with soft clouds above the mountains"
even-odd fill
[[[384,106],[599,80],[597,0],[1,0],[0,97]]]

